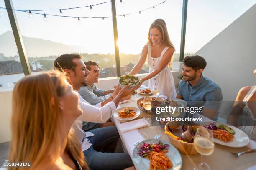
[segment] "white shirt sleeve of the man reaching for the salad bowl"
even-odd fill
[[[114,102],[109,102],[100,107],[101,103],[93,106],[79,100],[79,105],[83,113],[77,119],[94,123],[105,123],[114,114],[116,109]]]

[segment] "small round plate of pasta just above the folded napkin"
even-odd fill
[[[121,107],[115,110],[114,117],[119,120],[133,120],[141,114],[141,111],[136,107]]]

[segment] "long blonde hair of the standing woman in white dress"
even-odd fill
[[[159,30],[159,32],[161,33],[163,39],[162,42],[164,43],[164,45],[166,45],[166,47],[172,47],[174,50],[174,45],[172,44],[168,31],[167,31],[167,27],[166,27],[166,23],[163,19],[156,19],[154,20],[154,22],[150,25],[149,30],[148,30],[148,44],[152,44],[152,40],[150,39],[150,30],[152,28],[156,28],[157,30]],[[171,59],[171,61],[169,62],[169,67],[171,67],[172,65],[172,61],[173,58]]]

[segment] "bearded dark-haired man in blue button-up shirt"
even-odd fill
[[[220,87],[202,75],[206,61],[198,55],[187,56],[183,60],[182,80],[179,82],[177,98],[191,102],[192,105],[203,105],[202,115],[217,120],[222,101]]]

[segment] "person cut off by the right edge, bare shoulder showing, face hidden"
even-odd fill
[[[256,77],[256,67],[253,73]],[[239,90],[227,123],[237,126],[256,141],[256,85]]]

